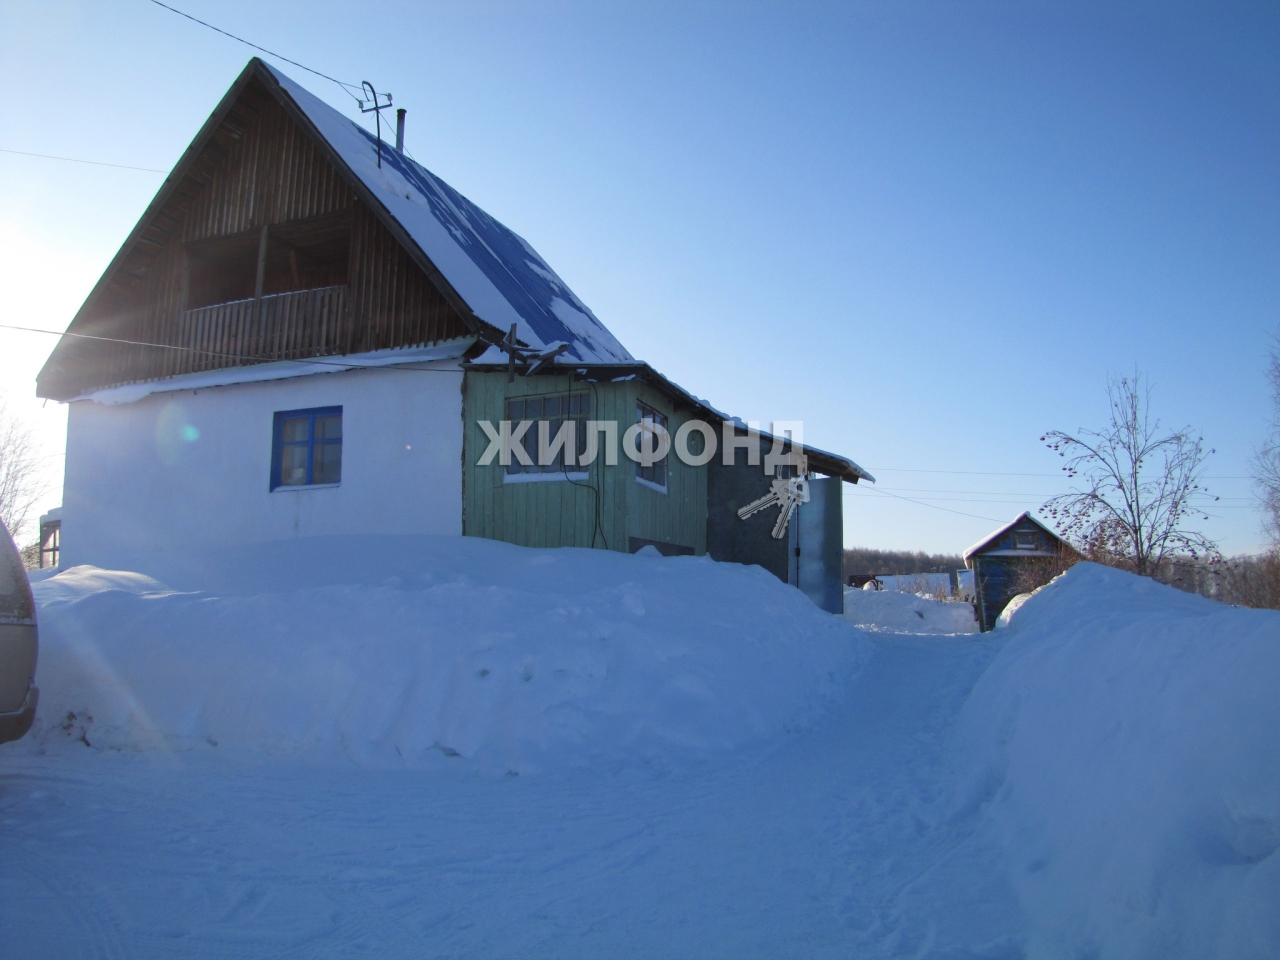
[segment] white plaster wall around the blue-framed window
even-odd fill
[[[335,406],[342,483],[271,492],[274,413]],[[462,534],[461,371],[360,370],[70,404],[64,568],[335,534]]]

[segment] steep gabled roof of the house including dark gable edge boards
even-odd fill
[[[192,197],[207,186],[227,155],[224,127],[234,127],[238,136],[247,124],[237,113],[238,101],[253,83],[298,124],[475,334],[497,339],[515,324],[517,339],[527,347],[568,344],[566,362],[632,360],[521,237],[389,143],[381,145],[379,168],[372,134],[257,58],[250,60],[165,178],[77,311],[69,333],[105,333],[84,329],[86,323],[118,276],[140,278],[150,269]],[[37,378],[40,396],[67,399],[81,393],[60,383],[60,372],[86,343],[59,342]]]

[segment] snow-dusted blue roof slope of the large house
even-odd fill
[[[379,166],[374,134],[264,65],[477,317],[538,349],[567,343],[564,362],[634,360],[524,238],[385,141]]]

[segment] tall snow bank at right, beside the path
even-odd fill
[[[959,723],[1029,956],[1280,955],[1280,613],[1078,564]]]

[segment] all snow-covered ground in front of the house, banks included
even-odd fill
[[[1280,954],[1280,614],[1082,564],[868,632],[692,558],[308,547],[37,584],[0,952]]]

